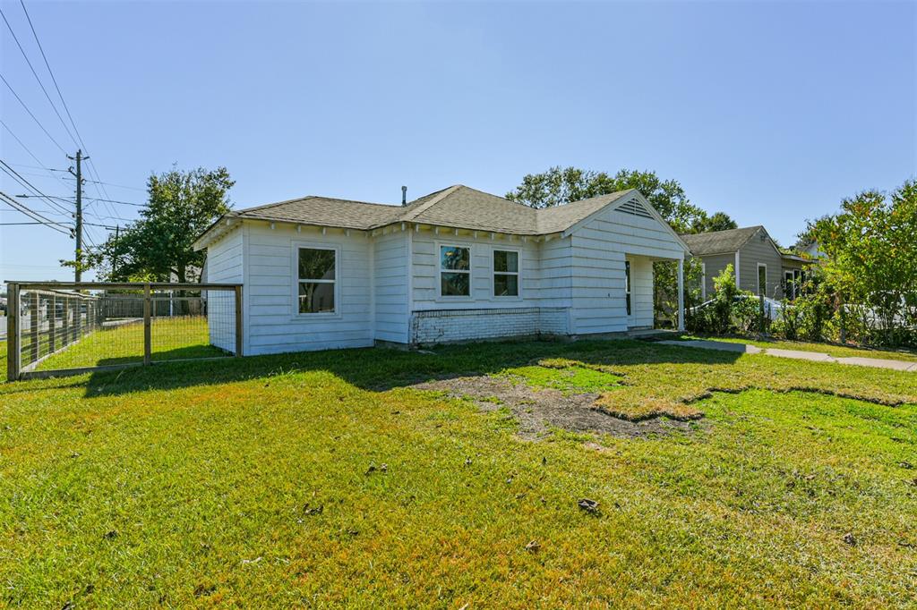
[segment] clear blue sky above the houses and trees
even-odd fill
[[[149,172],[173,164],[225,165],[236,207],[305,194],[398,202],[402,184],[411,197],[455,183],[503,194],[552,165],[654,169],[790,244],[845,196],[917,173],[912,2],[27,7],[118,201],[143,202]],[[0,8],[56,100],[22,7]],[[72,153],[0,28],[0,73]],[[6,125],[42,165],[66,169],[3,89]],[[0,158],[41,191],[72,194],[23,167],[37,164],[2,127],[0,138]],[[2,175],[0,191],[23,189]],[[87,222],[136,212],[94,202]],[[0,226],[0,279],[71,278],[57,266],[67,256],[65,235]]]

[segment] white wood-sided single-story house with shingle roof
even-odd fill
[[[653,262],[680,271],[688,252],[633,190],[547,210],[461,185],[404,191],[400,206],[230,212],[196,240],[208,281],[243,284],[245,354],[652,328]]]

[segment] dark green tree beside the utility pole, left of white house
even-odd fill
[[[229,212],[226,193],[234,184],[226,168],[152,174],[140,219],[110,236],[91,255],[93,266],[111,281],[198,279],[204,253],[194,252],[193,241]]]

